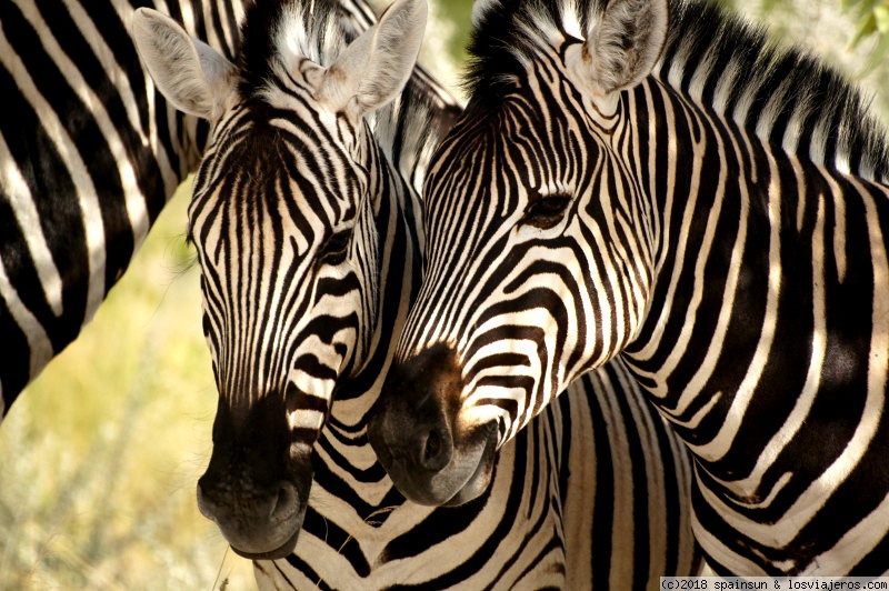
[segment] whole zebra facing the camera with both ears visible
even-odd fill
[[[220,392],[201,510],[269,588],[641,589],[693,572],[688,457],[621,363],[572,385],[458,507],[406,502],[376,461],[367,413],[451,124],[416,77],[398,90],[424,14],[398,0],[352,40],[327,3],[258,1],[232,63],[137,13],[158,87],[213,124],[189,208]]]

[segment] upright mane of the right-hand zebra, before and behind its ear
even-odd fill
[[[577,2],[577,3],[576,3]],[[470,109],[490,109],[550,39],[583,37],[605,0],[489,0],[475,14]],[[779,47],[713,1],[670,0],[655,76],[763,141],[878,182],[889,180],[886,130],[857,87],[820,58]],[[542,33],[542,34],[541,34]],[[550,50],[551,51],[551,50]]]

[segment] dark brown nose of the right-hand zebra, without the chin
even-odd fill
[[[453,458],[452,421],[448,411],[459,382],[449,349],[439,345],[409,367],[392,365],[371,411],[368,439],[396,487],[417,502],[437,503],[428,483]]]

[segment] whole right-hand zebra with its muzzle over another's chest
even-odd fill
[[[695,458],[716,572],[887,572],[889,159],[859,91],[712,2],[488,0],[472,34],[369,427],[397,487],[477,485],[618,358]]]

